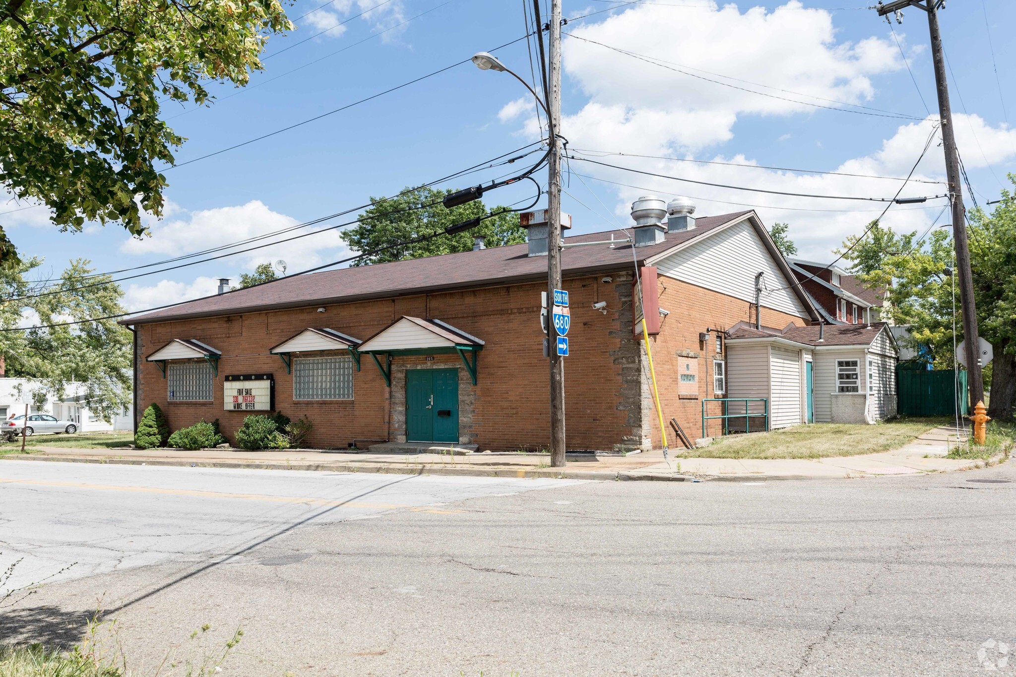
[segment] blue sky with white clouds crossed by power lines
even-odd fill
[[[323,1],[300,0],[288,11],[297,17]],[[178,161],[327,113],[525,33],[521,2],[389,0],[351,18],[381,1],[336,0],[308,14],[297,21],[297,30],[269,41],[266,69],[251,78],[251,87],[213,85],[218,100],[210,107],[168,108],[166,118],[188,139],[177,152]],[[566,16],[576,17],[616,4],[566,0],[564,9]],[[874,11],[858,9],[864,4],[812,0],[763,7],[652,0],[572,21],[565,31],[577,38],[565,41],[561,133],[585,157],[600,155],[601,161],[646,172],[775,191],[892,196],[900,183],[891,180],[605,155],[905,176],[934,125],[920,120],[926,108],[889,25]],[[976,116],[958,116],[956,134],[974,196],[982,204],[998,199],[1005,173],[1016,171],[1016,132],[1007,129],[988,40],[990,30],[998,77],[1009,90],[1005,106],[1016,118],[1011,93],[1016,45],[1007,28],[1016,24],[1016,3],[985,0],[982,9],[981,0],[951,0],[940,16],[947,56],[959,80],[959,89],[951,89],[953,111]],[[902,25],[893,27],[934,112],[927,18],[911,8]],[[497,54],[528,75],[524,41]],[[4,224],[23,253],[46,258],[46,277],[73,257],[90,259],[99,270],[142,265],[355,207],[370,196],[392,194],[535,141],[537,126],[524,94],[510,76],[466,63],[268,139],[171,168],[166,173],[170,208],[162,221],[152,221],[152,238],[143,242],[130,241],[116,225],[61,233],[46,225],[45,210],[38,208],[8,213]],[[845,113],[862,109],[829,99],[915,119]],[[871,210],[883,206],[678,183],[578,160],[570,165],[574,174],[566,178],[564,208],[578,232],[626,225],[628,204],[650,189],[663,197],[693,196],[700,215],[748,208],[727,204],[732,202],[765,205],[758,209],[764,220],[787,221],[803,255],[828,260],[831,248],[845,234],[861,231],[879,213]],[[498,167],[473,177],[490,179],[506,171]],[[915,178],[942,179],[936,143]],[[542,180],[546,182],[546,174]],[[903,194],[935,195],[942,188],[913,183]],[[529,194],[531,185],[509,187],[489,194],[487,201],[511,203]],[[923,230],[944,204],[939,199],[919,209],[894,207],[886,222]],[[815,209],[843,211],[811,211]],[[948,222],[948,214],[939,222]],[[214,278],[236,279],[259,261],[285,259],[292,273],[347,255],[331,231],[123,286],[128,304],[140,310],[209,293]]]

